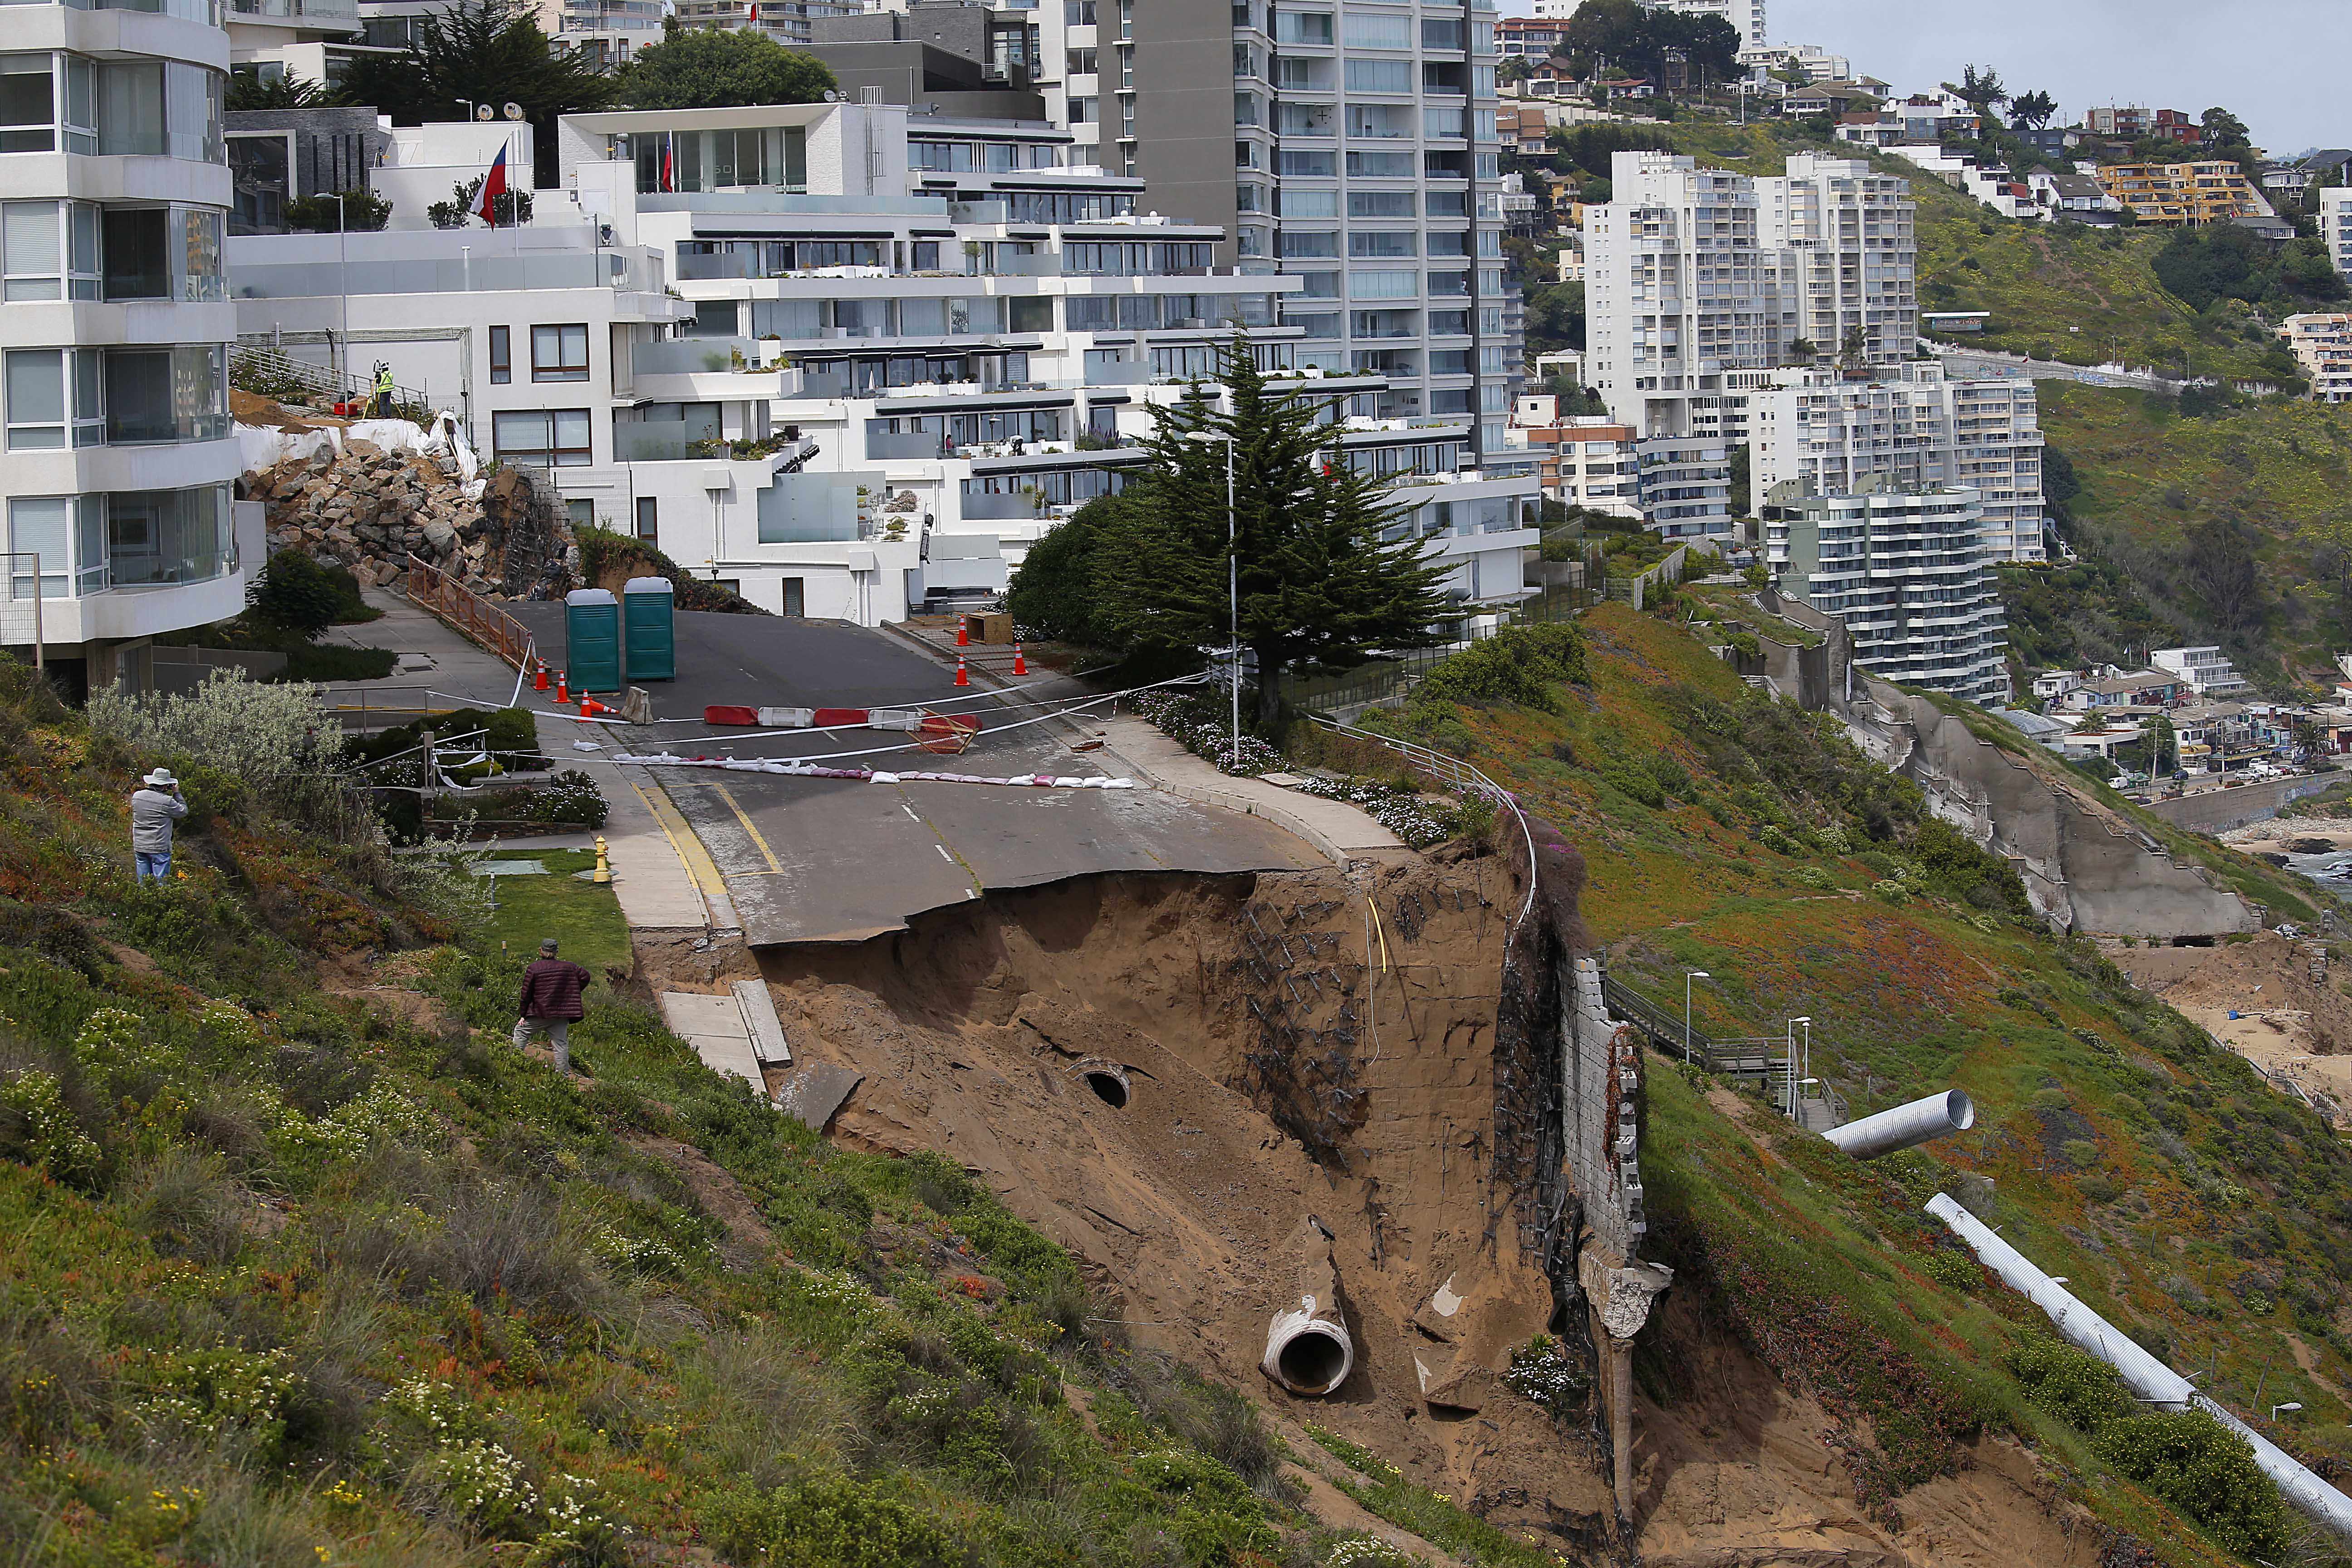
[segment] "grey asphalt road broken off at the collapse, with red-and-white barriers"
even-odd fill
[[[560,604],[508,607],[541,649],[562,646]],[[781,616],[677,616],[677,679],[647,684],[654,715],[699,719],[713,703],[750,708],[910,708],[974,712],[985,729],[962,757],[898,750],[858,757],[889,769],[964,773],[1103,773],[1063,745],[1061,726],[1002,729],[1035,710],[1004,708],[884,632]],[[967,698],[955,703],[955,698]],[[978,698],[978,701],[969,701]],[[633,731],[642,736],[647,731]],[[757,741],[703,724],[661,724],[644,750],[734,757],[828,757],[903,745],[870,729]],[[741,733],[741,731],[739,731]],[[1155,790],[1007,790],[990,785],[776,778],[654,769],[727,877],[748,943],[851,943],[906,929],[927,910],[993,889],[1089,872],[1242,872],[1319,865],[1315,851],[1251,816]]]

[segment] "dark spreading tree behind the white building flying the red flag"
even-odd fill
[[[419,14],[407,49],[353,56],[336,99],[374,106],[393,125],[461,120],[466,103],[520,103],[541,186],[555,183],[555,118],[614,101],[612,78],[553,49],[532,12],[513,0],[456,0]]]

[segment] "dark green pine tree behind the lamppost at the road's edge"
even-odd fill
[[[1141,505],[1096,550],[1098,623],[1129,646],[1225,646],[1228,564],[1240,562],[1240,632],[1258,663],[1258,722],[1268,724],[1284,670],[1439,642],[1444,569],[1399,527],[1409,512],[1388,498],[1385,480],[1324,463],[1329,397],[1275,393],[1240,336],[1218,350],[1216,381],[1225,407],[1216,386],[1197,383],[1152,409],[1150,468],[1129,487]]]

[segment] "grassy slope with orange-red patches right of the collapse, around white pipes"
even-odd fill
[[[1889,903],[1870,891],[1884,865],[1851,853],[1764,849],[1780,804],[1710,771],[1677,715],[1693,693],[1745,701],[1729,668],[1623,607],[1583,625],[1592,686],[1564,712],[1465,708],[1461,722],[1472,759],[1585,853],[1583,910],[1613,971],[1668,1009],[1686,969],[1710,971],[1696,1023],[1717,1037],[1811,1016],[1813,1070],[1856,1114],[1945,1084],[1978,1105],[1966,1138],[1863,1168],[1797,1133],[1759,1152],[1703,1084],[1651,1070],[1661,1241],[1719,1281],[1715,1307],[1783,1373],[1875,1422],[1886,1453],[1860,1476],[1865,1497],[1957,1462],[1957,1436],[1990,1418],[2049,1443],[2093,1507],[2166,1561],[2213,1556],[2009,1380],[2002,1356],[2037,1314],[1955,1272],[1917,1213],[1971,1175],[1992,1178],[2006,1239],[2145,1345],[2211,1363],[2204,1387],[2241,1413],[2258,1385],[2265,1403],[2300,1399],[2281,1441],[2352,1453],[2352,1157],[2326,1128],[2084,945],[1936,893]],[[1621,788],[1677,771],[1689,783],[1663,809]],[[1649,1378],[1675,1396],[1672,1368]]]

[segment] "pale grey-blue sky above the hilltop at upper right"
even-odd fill
[[[1769,0],[1766,14],[1773,42],[1820,45],[1903,92],[1990,63],[2009,92],[2058,99],[2065,125],[2091,103],[2218,103],[2274,155],[2352,146],[2352,0]]]

